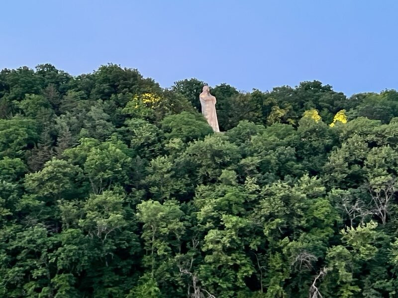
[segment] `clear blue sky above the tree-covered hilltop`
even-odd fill
[[[352,93],[398,89],[396,0],[5,0],[0,69],[112,62],[168,87],[271,90],[317,79]]]

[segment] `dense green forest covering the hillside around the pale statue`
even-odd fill
[[[398,92],[0,72],[0,297],[398,297]]]

